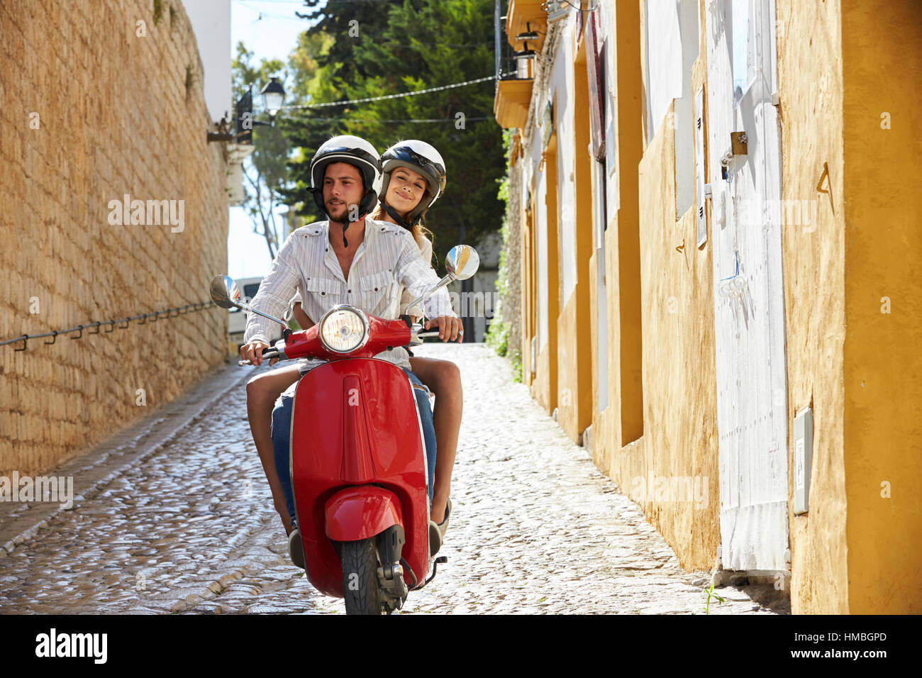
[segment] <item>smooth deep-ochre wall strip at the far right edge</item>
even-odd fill
[[[922,6],[843,0],[842,46],[848,611],[920,613]]]

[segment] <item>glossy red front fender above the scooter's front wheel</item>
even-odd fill
[[[392,525],[404,527],[396,494],[376,485],[340,490],[326,500],[326,536],[333,541],[357,541],[380,534]]]

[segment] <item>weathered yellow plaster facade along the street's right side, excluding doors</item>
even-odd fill
[[[559,330],[560,347],[542,352],[533,388],[550,412],[555,395],[592,384],[595,463],[642,506],[683,567],[705,568],[720,542],[711,244],[695,247],[693,209],[675,220],[674,136],[665,121],[644,148],[642,10],[614,7],[618,201],[604,248],[608,354],[597,355],[591,232],[589,245],[577,232],[577,252],[588,249],[558,316],[557,225],[549,223],[549,327]],[[776,10],[792,612],[919,613],[922,12],[914,0],[777,0]],[[692,90],[706,75],[704,29],[701,40]],[[578,84],[585,74],[576,59]],[[573,143],[582,149],[585,106],[574,114]],[[587,168],[597,171],[591,161]],[[795,201],[806,208],[797,221],[785,208]],[[593,201],[577,202],[583,223]],[[555,220],[556,190],[548,207]],[[710,231],[710,207],[708,214]],[[587,349],[573,332],[580,303],[590,309],[591,331],[580,338]],[[886,303],[890,313],[881,313]],[[586,351],[609,364],[604,411],[596,370],[582,376]],[[550,383],[555,367],[560,388]],[[808,406],[810,511],[794,516],[793,421]],[[581,430],[576,411],[560,412],[568,433]],[[640,495],[636,480],[651,476],[706,478],[707,505]]]

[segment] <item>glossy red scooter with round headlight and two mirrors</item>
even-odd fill
[[[458,245],[445,258],[448,275],[410,305],[478,267],[477,252]],[[265,358],[328,361],[301,377],[291,415],[291,486],[307,577],[320,592],[345,598],[349,614],[401,608],[446,559],[430,553],[425,443],[413,387],[394,363],[373,356],[438,333],[421,334],[408,316],[384,320],[349,304],[291,332],[240,302],[228,276],[212,280],[211,296],[219,306],[286,327]]]

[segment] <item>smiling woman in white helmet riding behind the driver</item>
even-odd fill
[[[444,190],[445,172],[442,156],[429,144],[410,140],[401,141],[384,151],[381,161],[383,174],[379,192],[380,203],[370,216],[373,220],[396,223],[412,232],[417,244],[420,245],[423,259],[429,263],[432,258],[432,244],[427,235],[431,235],[431,232],[426,229],[422,220]],[[413,301],[408,296],[405,291],[402,300],[404,304]],[[301,310],[300,295],[295,295],[292,303],[295,318],[301,327],[313,326],[313,320]],[[421,315],[419,307],[403,310],[409,315]],[[436,395],[433,422],[438,455],[430,517],[444,536],[451,512],[451,475],[461,426],[461,375],[455,363],[450,361],[412,357],[410,365],[420,381]],[[298,376],[299,366],[292,364],[255,376],[247,384],[247,414],[254,443],[260,452],[265,446],[271,454],[273,406],[278,395],[297,381]],[[275,479],[271,479],[270,484],[272,480]],[[275,492],[273,494],[276,495]],[[280,502],[277,498],[278,514],[289,515],[284,499]],[[286,522],[286,532],[290,534],[292,529],[292,525]]]

